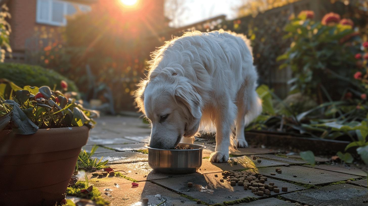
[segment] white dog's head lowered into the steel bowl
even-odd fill
[[[202,98],[191,82],[176,73],[142,81],[135,92],[139,109],[151,121],[149,146],[173,149],[198,132]]]

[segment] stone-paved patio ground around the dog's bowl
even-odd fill
[[[329,160],[319,157],[319,165],[312,168],[297,155],[279,155],[285,151],[267,148],[241,148],[231,155],[227,163],[210,163],[208,157],[214,150],[210,139],[198,138],[198,144],[205,144],[202,167],[196,172],[183,175],[155,173],[148,166],[148,155],[143,147],[150,128],[138,116],[103,116],[90,132],[83,149],[91,150],[99,145],[93,157],[103,157],[110,161],[110,167],[120,171],[125,178],[95,178],[88,174],[90,184],[97,187],[103,198],[112,206],[142,205],[143,198],[149,199],[149,206],[189,206],[237,204],[257,206],[287,205],[367,205],[367,173],[354,165],[329,164]],[[275,155],[278,154],[278,155]],[[258,163],[252,157],[261,161]],[[281,168],[282,173],[276,173]],[[279,193],[257,196],[243,186],[231,186],[220,181],[222,171],[250,171],[268,178],[265,184],[273,182]],[[271,173],[276,173],[272,175]],[[132,187],[132,181],[138,187]],[[188,188],[187,183],[193,182]],[[287,192],[282,191],[287,187]],[[256,198],[256,199],[254,199]],[[200,199],[202,204],[197,204]],[[248,199],[252,202],[246,203]]]

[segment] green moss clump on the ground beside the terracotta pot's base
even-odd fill
[[[87,189],[88,187],[89,185],[87,181],[79,180],[72,187],[68,187],[65,193],[66,195],[76,196],[78,198],[91,199],[96,203],[96,205],[110,205],[109,201],[102,198],[101,192],[96,187],[93,187],[92,191],[87,194],[81,193],[82,189]]]

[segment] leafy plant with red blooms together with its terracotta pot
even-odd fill
[[[88,140],[95,111],[76,92],[0,79],[0,205],[55,205]]]

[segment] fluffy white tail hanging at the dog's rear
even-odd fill
[[[255,85],[256,87],[256,85]],[[252,89],[248,95],[248,112],[245,114],[244,124],[247,126],[256,117],[262,113],[262,100],[259,98],[255,89]]]

